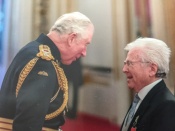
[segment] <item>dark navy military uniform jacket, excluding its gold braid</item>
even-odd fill
[[[51,61],[39,58],[16,97],[20,72],[39,52],[39,45],[47,45],[55,61],[60,62],[60,53],[55,44],[44,34],[24,46],[15,56],[4,77],[0,90],[0,117],[13,120],[14,131],[41,131],[42,127],[58,129],[64,124],[63,112],[50,120],[45,116],[57,110],[63,102],[63,91],[59,91],[53,102],[51,98],[58,91],[56,71]],[[39,74],[45,72],[47,75]]]

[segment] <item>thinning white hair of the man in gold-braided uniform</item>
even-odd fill
[[[84,37],[90,25],[94,28],[90,19],[84,14],[72,12],[60,16],[50,31],[57,31],[59,34],[77,33]]]

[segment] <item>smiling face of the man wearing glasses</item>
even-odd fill
[[[139,50],[131,50],[124,62],[123,72],[127,77],[127,84],[130,89],[139,92],[144,86],[151,83],[151,67],[149,62],[143,62]]]

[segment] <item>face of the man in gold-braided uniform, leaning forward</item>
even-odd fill
[[[62,63],[70,65],[73,61],[76,61],[80,57],[86,56],[87,46],[90,44],[93,36],[93,29],[89,28],[86,38],[80,38],[76,34],[70,36],[68,40],[67,52],[62,56]]]

